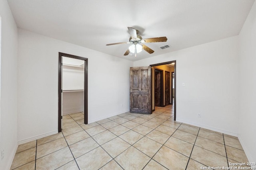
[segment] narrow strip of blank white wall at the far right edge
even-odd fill
[[[256,2],[239,34],[239,139],[249,162],[256,162]]]

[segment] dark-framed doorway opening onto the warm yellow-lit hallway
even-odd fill
[[[162,70],[163,73],[163,82],[162,84],[164,84],[161,88],[162,91],[160,92],[162,94],[162,101],[163,104],[160,105],[160,107],[165,107],[169,104],[172,104],[174,106],[174,120],[176,120],[176,61],[169,61],[169,62],[165,62],[165,63],[158,63],[158,64],[152,64],[151,66],[151,72],[152,72],[152,100],[151,100],[151,106],[152,106],[152,111],[155,110],[155,106],[158,107],[158,104],[155,103],[155,98],[157,96],[156,92],[155,92],[155,86],[157,85],[155,80],[156,75],[155,74],[160,74],[158,73],[158,71],[155,72],[155,70]],[[170,68],[168,68],[170,67]],[[173,72],[173,78],[172,78],[172,74],[170,75],[170,73]],[[159,75],[158,75],[159,76]],[[153,82],[154,81],[154,82]],[[157,88],[156,88],[157,89]],[[159,92],[159,90],[158,90]],[[154,95],[154,96],[153,96]]]

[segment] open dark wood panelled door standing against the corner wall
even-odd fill
[[[150,66],[130,68],[130,112],[152,113]]]

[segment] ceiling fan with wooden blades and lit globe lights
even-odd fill
[[[138,35],[139,31],[128,27],[128,31],[131,35],[129,42],[122,42],[122,43],[112,43],[107,45],[116,45],[116,44],[132,44],[129,49],[124,53],[124,55],[128,55],[130,52],[135,53],[135,57],[137,53],[140,53],[142,49],[144,49],[146,52],[152,54],[154,51],[150,49],[148,46],[142,44],[142,43],[156,43],[156,42],[166,42],[166,37],[154,37],[154,38],[146,38],[142,39],[140,35]]]

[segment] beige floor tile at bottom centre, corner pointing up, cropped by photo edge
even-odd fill
[[[130,147],[115,158],[125,170],[141,170],[150,161],[150,157],[134,147]]]

